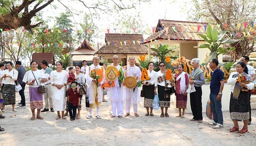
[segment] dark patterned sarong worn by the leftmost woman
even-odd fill
[[[2,93],[3,105],[15,105],[15,85],[5,84]]]

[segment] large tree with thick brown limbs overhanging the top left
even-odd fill
[[[73,2],[77,2],[80,5],[84,6],[89,10],[91,17],[94,14],[98,14],[98,11],[104,13],[113,13],[114,11],[120,11],[123,9],[132,9],[135,8],[137,3],[148,2],[150,0],[131,0],[129,4],[125,4],[122,1],[81,1],[81,0],[73,0]],[[42,21],[37,21],[35,24],[32,24],[32,19],[41,12],[44,8],[49,5],[52,5],[54,0],[4,0],[0,1],[0,28],[6,29],[18,29],[19,27],[24,27],[29,30],[31,28],[37,27]],[[57,0],[57,5],[61,4],[65,8],[67,8],[70,12],[70,6],[67,3],[63,3],[62,0]],[[109,3],[109,4],[108,4]],[[56,7],[57,8],[57,7]],[[72,14],[75,14],[72,12]],[[97,16],[97,15],[96,15]]]

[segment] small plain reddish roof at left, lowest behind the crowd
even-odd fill
[[[33,53],[32,60],[35,60],[38,64],[42,60],[46,60],[49,64],[55,64],[53,53]]]

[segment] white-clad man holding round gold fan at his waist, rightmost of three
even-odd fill
[[[133,76],[137,78],[137,82],[140,82],[141,79],[141,70],[138,66],[135,65],[135,57],[129,57],[129,65],[126,66],[125,76]],[[133,103],[133,111],[135,116],[139,116],[138,112],[138,104],[140,103],[140,92],[139,88],[135,87],[135,89],[125,88],[125,112],[124,116],[130,115],[131,103]]]

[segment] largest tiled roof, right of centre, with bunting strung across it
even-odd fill
[[[191,21],[175,21],[159,19],[155,33],[146,38],[144,43],[158,39],[180,39],[180,40],[200,40],[203,38],[197,34],[205,34],[204,26],[206,22],[191,22]],[[198,31],[198,26],[200,29]],[[174,31],[176,30],[176,32]]]

